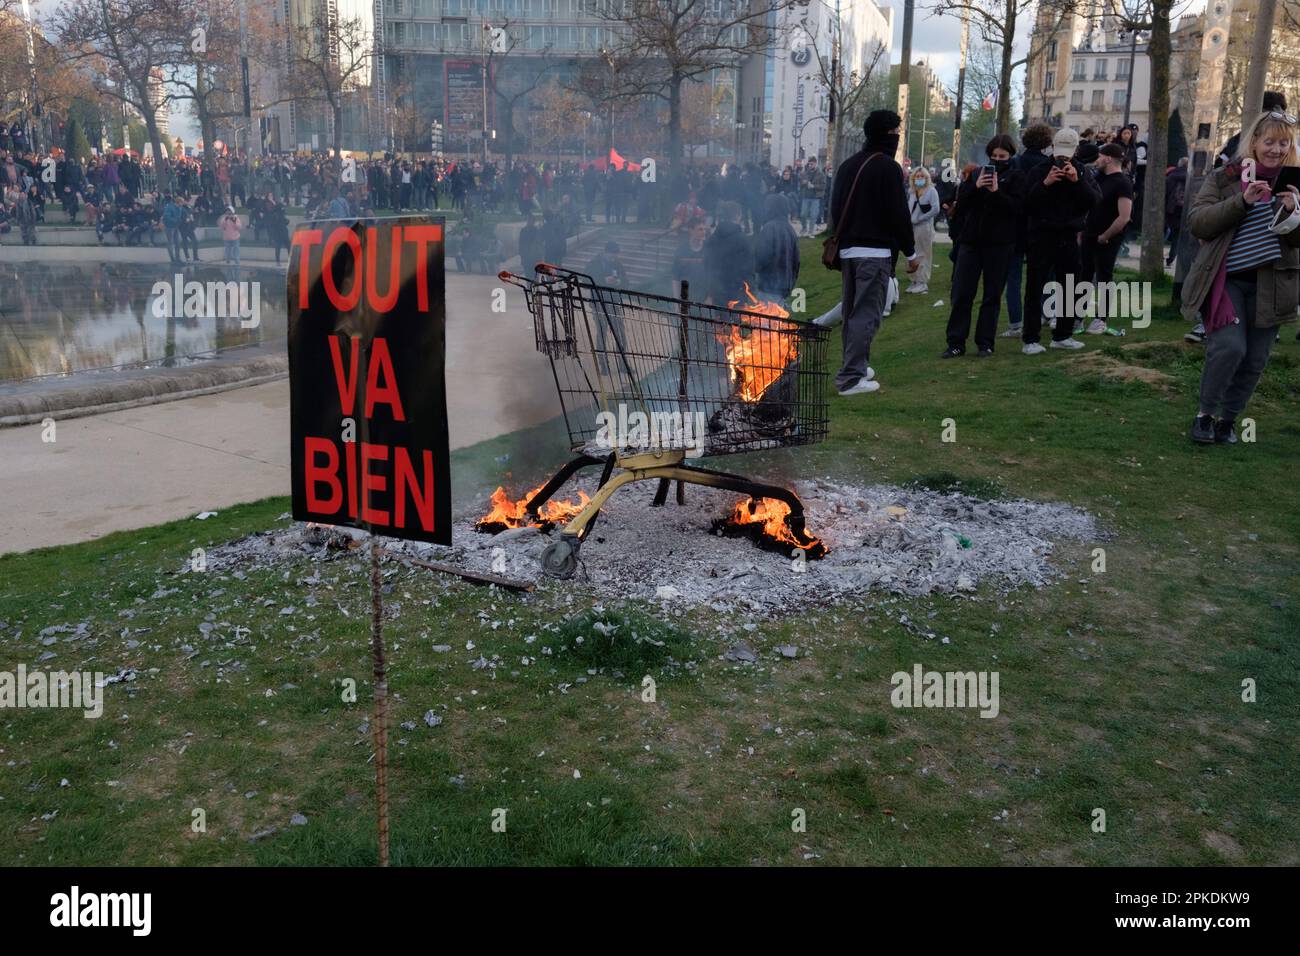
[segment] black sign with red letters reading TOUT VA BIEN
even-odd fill
[[[294,233],[294,518],[451,544],[443,232],[417,216]]]

